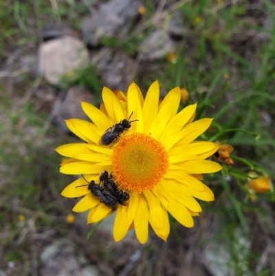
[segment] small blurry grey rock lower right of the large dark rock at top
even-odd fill
[[[156,30],[141,45],[142,60],[154,61],[175,52],[175,44],[164,30]]]

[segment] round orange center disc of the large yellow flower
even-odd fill
[[[168,169],[168,154],[160,142],[146,134],[120,138],[113,150],[113,176],[120,189],[152,189]]]

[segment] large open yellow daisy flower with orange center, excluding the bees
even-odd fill
[[[166,241],[170,231],[168,213],[180,224],[192,227],[192,216],[201,212],[195,198],[214,200],[212,191],[201,182],[201,173],[221,169],[216,162],[205,160],[219,146],[214,142],[194,141],[208,129],[212,119],[203,118],[192,123],[196,104],[177,114],[180,98],[180,89],[176,87],[159,103],[157,81],[149,87],[145,98],[135,83],[129,86],[126,96],[104,87],[104,104],[100,109],[81,103],[93,123],[66,120],[67,127],[86,143],[56,149],[70,158],[61,164],[61,173],[83,174],[69,184],[62,195],[83,197],[73,211],[89,210],[88,223],[98,222],[116,212],[113,225],[116,242],[134,227],[137,240],[144,244],[148,238],[148,224]],[[130,116],[131,122],[136,120],[131,127],[124,129],[115,142],[101,145],[107,129],[112,131],[114,125]],[[91,187],[87,182],[94,180],[94,184],[99,184],[102,171],[111,173],[117,189],[129,194],[125,205],[118,204],[111,209],[88,189]]]

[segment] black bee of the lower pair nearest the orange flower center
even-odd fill
[[[100,182],[103,182],[104,191],[102,193],[112,196],[119,204],[126,206],[126,201],[129,200],[130,195],[129,193],[118,189],[118,186],[113,181],[111,173],[109,178],[108,171],[102,171],[99,180]]]

